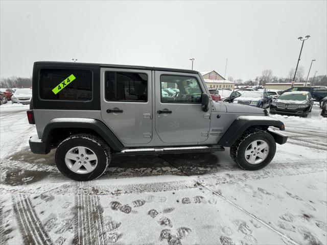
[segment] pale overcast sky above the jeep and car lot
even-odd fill
[[[300,65],[327,74],[327,1],[1,1],[0,76],[35,61],[216,70],[243,80]]]

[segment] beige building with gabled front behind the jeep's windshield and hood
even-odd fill
[[[200,72],[206,86],[208,88],[217,88],[217,89],[234,89],[235,83],[225,80],[217,71],[201,71]]]

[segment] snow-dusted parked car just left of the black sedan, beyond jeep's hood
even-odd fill
[[[233,103],[268,108],[272,102],[272,96],[265,91],[245,91],[241,96],[234,99]]]

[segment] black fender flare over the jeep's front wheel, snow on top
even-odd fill
[[[269,126],[276,127],[279,130],[285,130],[285,126],[282,121],[269,116],[239,116],[232,122],[218,141],[218,144],[221,146],[230,147],[247,129],[255,127],[268,128]],[[268,133],[270,132],[268,131]],[[287,136],[285,135],[285,137],[286,139],[284,141],[286,142]],[[276,142],[279,143],[283,141],[278,140]]]

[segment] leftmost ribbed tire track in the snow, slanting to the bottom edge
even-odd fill
[[[36,215],[29,197],[24,194],[13,195],[13,207],[25,244],[46,244],[53,242]]]

